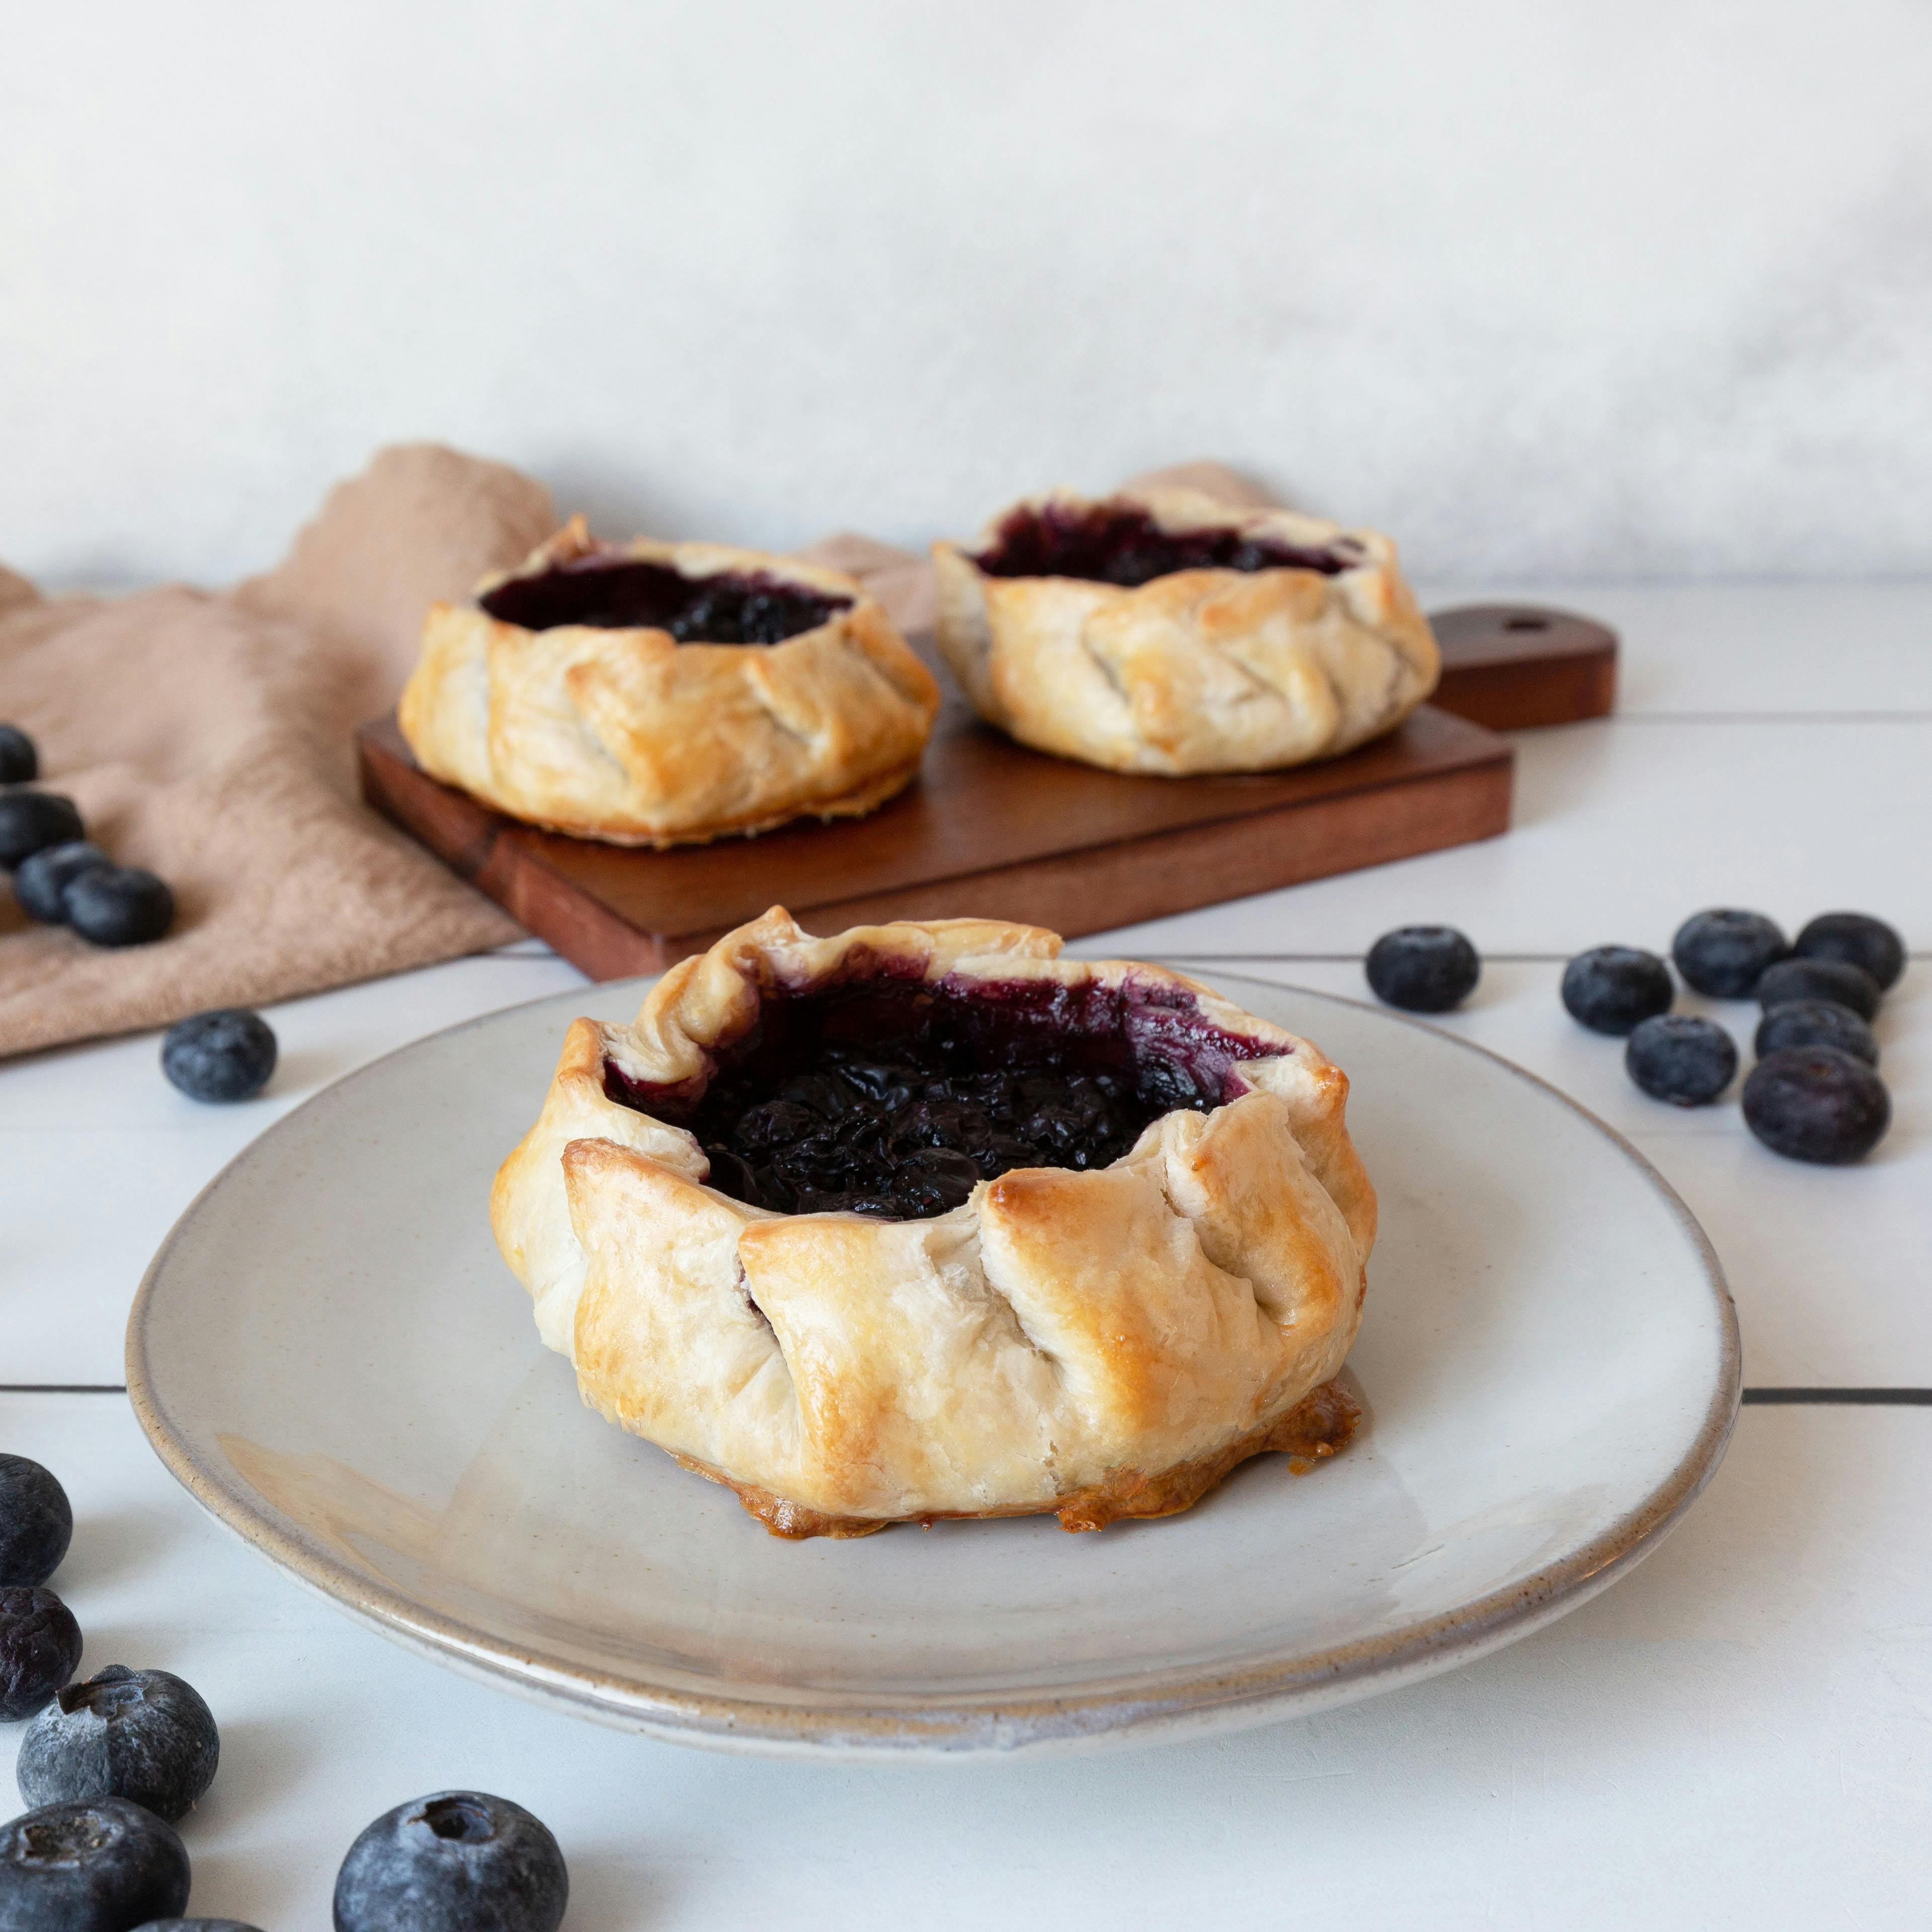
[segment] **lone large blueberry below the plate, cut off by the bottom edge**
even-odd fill
[[[336,1932],[556,1932],[568,1901],[564,1855],[522,1804],[437,1791],[350,1845]]]

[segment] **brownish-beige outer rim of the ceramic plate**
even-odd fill
[[[1273,981],[1248,980],[1242,974],[1215,974],[1215,980],[1287,991]],[[1743,1391],[1737,1308],[1704,1229],[1675,1188],[1629,1140],[1559,1088],[1499,1053],[1478,1047],[1443,1028],[1366,1007],[1362,1001],[1318,993],[1312,987],[1293,987],[1293,991],[1337,1007],[1356,1007],[1374,1012],[1391,1026],[1414,1026],[1437,1039],[1447,1039],[1464,1053],[1492,1061],[1524,1086],[1549,1095],[1578,1115],[1604,1136],[1623,1161],[1636,1169],[1638,1177],[1683,1225],[1702,1264],[1704,1283],[1718,1312],[1716,1385],[1704,1420],[1675,1468],[1607,1530],[1555,1563],[1507,1590],[1461,1604],[1406,1629],[1360,1642],[1269,1658],[1238,1671],[1175,1671],[1171,1677],[1157,1679],[1155,1685],[1150,1685],[1144,1675],[1130,1692],[1101,1685],[1063,1696],[1024,1700],[995,1694],[974,1698],[956,1692],[939,1698],[893,1692],[869,1700],[817,1694],[813,1702],[726,1698],[638,1679],[620,1681],[560,1658],[514,1650],[458,1619],[425,1609],[402,1592],[371,1584],[369,1578],[352,1573],[309,1540],[290,1534],[243,1490],[195,1453],[187,1435],[170,1420],[166,1403],[155,1387],[147,1360],[147,1327],[155,1289],[166,1271],[168,1256],[184,1233],[207,1211],[230,1171],[245,1161],[263,1140],[278,1134],[288,1121],[323,1099],[340,1095],[344,1086],[365,1078],[388,1061],[415,1053],[431,1039],[446,1039],[497,1022],[504,1012],[518,1010],[514,1007],[444,1028],[355,1068],[267,1128],[195,1196],[141,1277],[141,1289],[128,1318],[128,1399],[162,1464],[203,1509],[278,1569],[328,1598],[357,1621],[466,1675],[483,1677],[545,1704],[566,1706],[580,1716],[676,1743],[846,1760],[960,1758],[1014,1750],[1070,1752],[1109,1743],[1153,1743],[1269,1723],[1434,1677],[1528,1636],[1577,1609],[1642,1561],[1675,1526],[1716,1472],[1737,1418]],[[554,997],[547,995],[524,1005],[547,1005]]]

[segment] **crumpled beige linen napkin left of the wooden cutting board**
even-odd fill
[[[520,927],[355,796],[352,732],[423,611],[554,527],[547,491],[454,450],[383,450],[288,558],[228,591],[41,597],[0,572],[0,719],[89,837],[172,887],[174,931],[99,951],[0,889],[0,1055],[477,952]]]

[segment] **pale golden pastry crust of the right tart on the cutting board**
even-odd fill
[[[1016,510],[1109,506],[1142,508],[1175,533],[1341,545],[1350,560],[1333,574],[1175,570],[1128,589],[981,570],[1007,518],[978,553],[935,543],[939,649],[980,715],[1022,744],[1109,771],[1271,771],[1349,752],[1435,690],[1435,638],[1378,531],[1192,489],[1099,504],[1053,491]]]

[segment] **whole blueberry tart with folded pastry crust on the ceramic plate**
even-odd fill
[[[576,1020],[491,1221],[609,1420],[779,1536],[1186,1509],[1341,1447],[1349,1080],[1157,966],[775,908]]]

